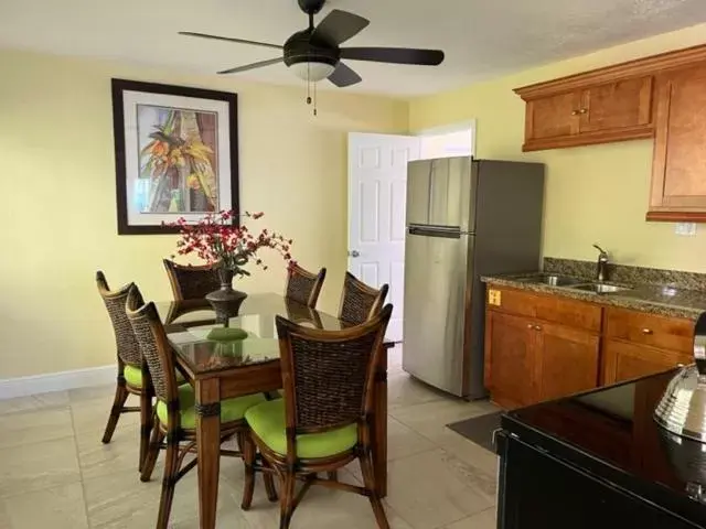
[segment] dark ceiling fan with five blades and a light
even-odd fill
[[[181,31],[179,33],[181,35],[253,44],[282,51],[282,55],[279,57],[245,66],[236,66],[235,68],[218,72],[218,74],[235,74],[284,62],[295,75],[307,82],[315,83],[328,78],[341,88],[363,80],[352,68],[341,62],[343,58],[422,66],[437,66],[443,61],[443,52],[440,50],[340,47],[345,41],[363,31],[370,24],[370,20],[347,11],[334,9],[319,22],[319,25],[314,26],[313,17],[321,11],[325,0],[298,0],[298,2],[301,10],[309,15],[309,28],[291,35],[284,46],[191,31]]]

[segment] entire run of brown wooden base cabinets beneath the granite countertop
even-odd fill
[[[694,361],[689,320],[494,285],[490,290],[495,295],[485,311],[485,387],[503,408]]]

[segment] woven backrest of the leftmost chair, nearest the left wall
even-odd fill
[[[110,322],[113,323],[118,358],[125,364],[140,367],[142,365],[142,354],[135,338],[132,325],[130,325],[125,312],[125,302],[133,283],[126,284],[119,290],[110,290],[105,274],[98,270],[96,272],[96,284],[98,285],[98,293],[100,293],[100,298],[103,298],[103,302],[110,316]]]

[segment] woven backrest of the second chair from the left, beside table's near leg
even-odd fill
[[[140,290],[132,285],[126,302],[127,317],[140,345],[157,398],[167,404],[169,424],[179,425],[179,391],[174,374],[174,353],[154,303],[145,304]],[[176,421],[176,422],[174,422]]]

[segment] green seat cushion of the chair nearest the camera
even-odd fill
[[[277,399],[254,406],[245,420],[255,434],[274,452],[287,455],[285,433],[285,400]],[[324,433],[297,435],[297,457],[315,460],[345,452],[357,443],[357,425],[349,424]]]

